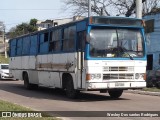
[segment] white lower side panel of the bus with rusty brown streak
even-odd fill
[[[16,79],[23,79],[23,72],[27,72],[30,83],[53,88],[61,88],[63,73],[69,73],[74,78],[75,89],[77,89],[81,88],[81,82],[76,73],[76,60],[77,53],[11,57],[10,72]],[[22,66],[15,65],[18,62],[23,62]]]

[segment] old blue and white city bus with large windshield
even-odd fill
[[[10,74],[24,87],[100,91],[119,98],[124,90],[146,87],[144,22],[91,16],[9,41]]]

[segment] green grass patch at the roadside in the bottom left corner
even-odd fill
[[[22,107],[20,105],[15,105],[13,103],[0,100],[0,111],[2,111],[2,112],[3,111],[13,111],[13,112],[22,111],[22,112],[25,112],[25,111],[33,111],[33,110],[31,110],[29,108]],[[45,115],[47,115],[47,114],[45,114]],[[1,113],[0,113],[0,116],[1,116]],[[55,117],[41,117],[41,118],[40,117],[39,118],[31,118],[31,117],[30,118],[25,118],[25,117],[24,118],[18,118],[18,117],[17,118],[14,118],[14,117],[2,118],[1,117],[0,120],[60,120],[60,119],[55,118]]]

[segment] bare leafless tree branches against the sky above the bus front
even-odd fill
[[[73,9],[75,16],[81,16],[88,12],[88,0],[63,0],[67,10]],[[153,8],[160,5],[160,0],[142,0],[143,2],[143,15],[150,13]],[[95,15],[102,15],[105,13],[107,16],[131,16],[135,14],[136,0],[91,0],[91,10]],[[103,12],[102,12],[103,11]]]

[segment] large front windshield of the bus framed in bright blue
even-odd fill
[[[92,29],[91,57],[143,57],[143,37],[138,29]]]

